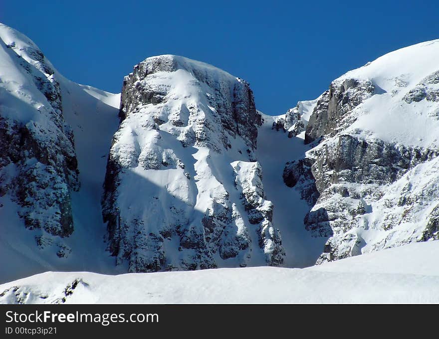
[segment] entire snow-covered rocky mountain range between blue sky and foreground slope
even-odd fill
[[[439,237],[439,40],[276,117],[202,62],[147,58],[111,94],[0,40],[0,282],[303,268]]]

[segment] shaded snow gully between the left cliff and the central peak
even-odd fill
[[[75,231],[65,241],[72,248],[71,261],[57,263],[57,270],[122,273],[105,251],[107,234],[102,221],[102,183],[109,145],[119,123],[120,94],[76,84],[61,75],[63,115],[75,135],[81,188],[72,193]]]

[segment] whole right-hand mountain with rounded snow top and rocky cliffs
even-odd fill
[[[315,147],[284,170],[310,204],[306,229],[328,239],[317,263],[438,239],[438,59],[439,40],[400,49],[318,100]]]

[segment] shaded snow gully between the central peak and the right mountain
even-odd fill
[[[311,147],[303,144],[303,135],[288,138],[288,133],[273,129],[273,123],[284,119],[284,115],[261,114],[263,123],[258,129],[256,158],[263,169],[265,193],[274,205],[273,224],[282,234],[282,245],[287,253],[284,266],[314,265],[326,239],[312,237],[305,229],[303,218],[310,206],[301,199],[300,192],[285,185],[282,178],[285,163],[303,158]]]

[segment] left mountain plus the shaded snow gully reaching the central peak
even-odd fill
[[[120,95],[65,79],[2,24],[0,39],[0,281],[121,272],[105,251],[100,206]]]

